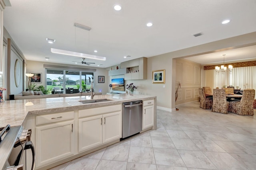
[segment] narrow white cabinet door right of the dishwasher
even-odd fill
[[[143,113],[143,125],[142,130],[154,126],[154,105],[145,106]]]

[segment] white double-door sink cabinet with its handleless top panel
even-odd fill
[[[122,137],[120,104],[79,110],[78,118],[78,152]]]

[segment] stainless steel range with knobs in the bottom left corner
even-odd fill
[[[0,128],[0,169],[1,170],[34,170],[35,152],[30,141],[31,130],[22,126]],[[32,164],[28,165],[26,152],[32,154]]]

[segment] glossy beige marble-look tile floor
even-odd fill
[[[157,130],[51,170],[255,170],[255,116],[214,113],[197,101],[158,109]]]

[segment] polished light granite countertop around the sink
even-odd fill
[[[22,125],[27,114],[40,115],[45,113],[71,111],[74,109],[115,105],[136,100],[152,100],[155,98],[156,96],[136,94],[96,95],[94,96],[94,99],[110,99],[112,101],[91,104],[82,104],[78,102],[79,100],[90,100],[90,96],[6,100],[5,102],[0,103],[0,127],[5,127],[7,124],[10,124],[11,126]]]

